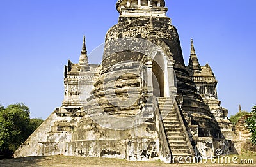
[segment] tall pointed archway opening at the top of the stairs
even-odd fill
[[[158,52],[152,63],[153,76],[153,94],[156,97],[164,97],[164,60]]]

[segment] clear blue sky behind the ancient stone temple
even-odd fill
[[[23,102],[31,117],[46,119],[63,100],[63,69],[77,62],[83,34],[88,52],[104,43],[118,20],[117,0],[1,0],[0,103]],[[188,64],[194,39],[201,65],[218,80],[218,98],[229,115],[256,105],[256,1],[170,0],[168,17],[177,27]],[[102,55],[88,57],[99,64]]]

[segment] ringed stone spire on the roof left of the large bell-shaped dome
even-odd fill
[[[82,47],[81,55],[79,57],[79,69],[81,72],[90,70],[90,66],[88,63],[88,57],[87,57],[85,35],[84,35],[84,39],[83,39],[83,47]]]

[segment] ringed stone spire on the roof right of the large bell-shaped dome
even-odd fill
[[[194,72],[200,72],[202,70],[195,52],[193,39],[191,39],[191,52],[188,67]]]

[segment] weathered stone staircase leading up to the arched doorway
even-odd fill
[[[186,138],[186,131],[182,128],[183,121],[180,121],[179,109],[173,105],[173,99],[157,98],[161,117],[163,119],[164,131],[172,152],[172,157],[191,157],[193,152],[189,149],[189,139]],[[175,99],[174,99],[175,102]]]

